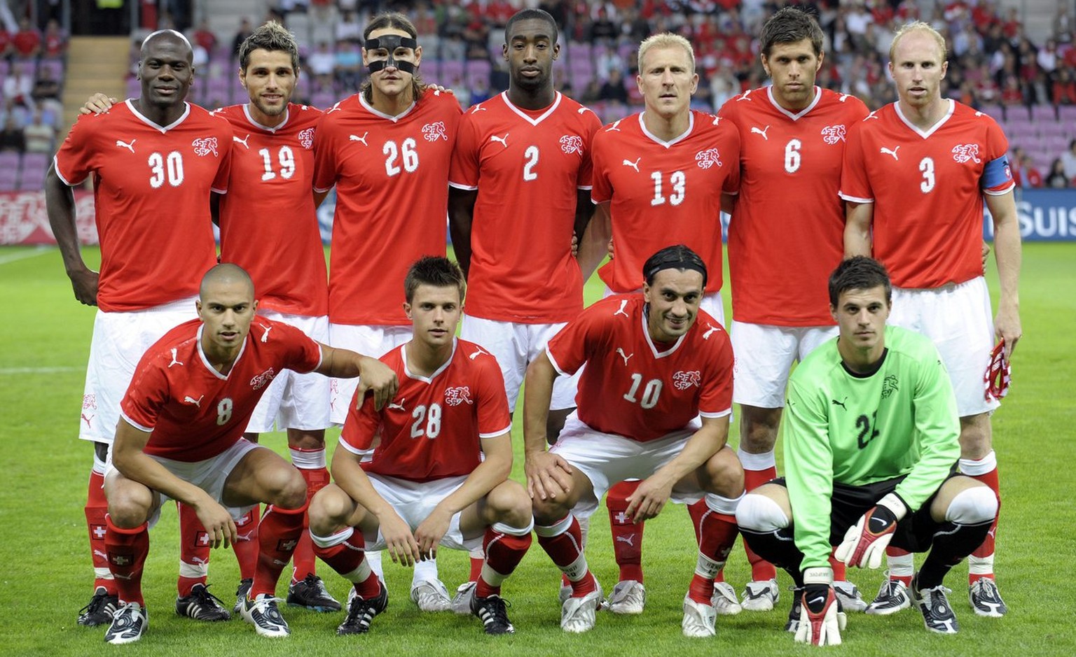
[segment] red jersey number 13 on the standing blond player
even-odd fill
[[[688,131],[663,142],[642,114],[594,135],[595,203],[611,201],[613,259],[598,270],[614,292],[642,287],[642,263],[686,244],[709,270],[707,292],[721,289],[721,194],[739,188],[740,139],[730,122],[692,111]]]

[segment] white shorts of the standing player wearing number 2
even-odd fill
[[[520,397],[520,386],[527,371],[527,365],[546,352],[546,344],[567,323],[520,324],[497,322],[464,314],[459,337],[490,352],[500,366],[505,377],[505,392],[508,395],[508,410],[515,412]],[[576,392],[579,389],[579,370],[571,376],[557,376],[553,382],[553,398],[550,410],[576,408]]]

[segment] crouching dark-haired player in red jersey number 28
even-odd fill
[[[438,545],[480,544],[485,560],[470,610],[486,633],[509,633],[500,586],[530,545],[533,520],[526,491],[508,479],[512,420],[500,368],[454,337],[464,295],[457,266],[422,258],[404,287],[414,337],[381,357],[399,390],[384,409],[352,404],[332,455],[334,483],[310,503],[317,555],[355,585],[337,633],[369,631],[388,604],[366,549],[387,549],[411,566],[436,557]]]

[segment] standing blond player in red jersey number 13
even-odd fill
[[[739,188],[739,133],[731,122],[691,110],[698,74],[682,37],[656,34],[641,43],[637,84],[643,112],[594,137],[592,199],[598,211],[580,253],[593,252],[592,242],[604,252],[611,237],[615,255],[598,273],[612,292],[625,294],[642,286],[639,272],[651,254],[685,244],[710,271],[702,308],[724,324],[720,214],[722,194]],[[633,485],[614,486],[606,505],[621,567],[610,609],[638,614],[645,601],[642,527],[624,514]]]

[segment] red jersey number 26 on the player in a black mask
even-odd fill
[[[399,116],[356,94],[325,112],[314,138],[314,188],[337,186],[329,322],[408,325],[404,276],[445,252],[449,166],[463,111],[427,89]]]

